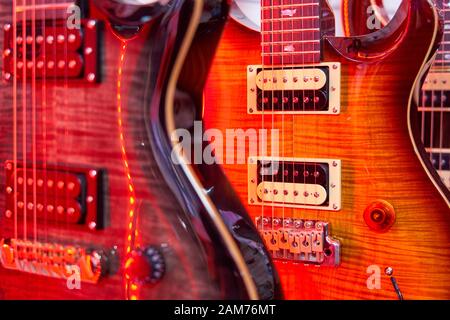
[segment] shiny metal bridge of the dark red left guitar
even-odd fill
[[[87,283],[97,283],[108,270],[102,251],[17,239],[0,241],[0,262],[6,269],[52,278],[77,274]]]

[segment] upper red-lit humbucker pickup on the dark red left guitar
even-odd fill
[[[26,22],[26,36],[23,37],[23,24],[18,24],[16,48],[13,43],[13,27],[4,26],[3,77],[11,80],[14,75],[27,78],[36,70],[36,78],[81,80],[87,83],[100,81],[100,30],[101,22],[81,20],[81,28],[67,27],[67,19],[36,21],[35,36],[31,21]],[[33,44],[35,57],[33,57]],[[16,70],[14,57],[16,50]],[[24,61],[25,59],[25,61]]]

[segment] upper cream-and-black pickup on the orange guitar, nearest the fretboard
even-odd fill
[[[247,68],[249,114],[339,114],[341,65]]]

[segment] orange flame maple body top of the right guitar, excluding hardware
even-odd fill
[[[322,61],[342,66],[340,114],[261,116],[247,107],[247,66],[261,63],[261,35],[227,23],[205,89],[206,126],[278,129],[279,156],[342,161],[342,205],[336,211],[273,207],[270,201],[253,205],[247,164],[223,165],[254,219],[325,221],[340,240],[336,267],[276,261],[286,298],[397,299],[388,267],[405,299],[450,298],[450,206],[426,173],[407,121],[414,84],[439,37],[431,3],[404,1],[378,32],[322,39]],[[384,233],[363,217],[379,200],[395,210],[395,222]]]

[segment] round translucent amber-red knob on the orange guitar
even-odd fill
[[[364,221],[376,232],[387,232],[395,222],[394,207],[387,201],[377,200],[364,210]]]

